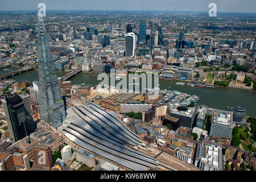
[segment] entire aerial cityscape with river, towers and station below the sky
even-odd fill
[[[255,171],[255,13],[37,13],[0,11],[0,171]]]

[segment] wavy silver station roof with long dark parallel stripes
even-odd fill
[[[102,156],[125,168],[144,171],[155,168],[156,159],[134,150],[144,146],[113,111],[106,112],[94,104],[70,107],[59,128],[61,134],[86,151]]]

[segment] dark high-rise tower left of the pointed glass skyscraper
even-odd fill
[[[29,95],[18,96],[7,93],[2,103],[11,139],[16,142],[35,131],[36,123],[32,118]]]

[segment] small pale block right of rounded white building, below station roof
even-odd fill
[[[77,162],[81,162],[88,167],[96,166],[95,155],[90,154],[89,152],[86,152],[81,148],[79,148],[79,150],[76,151],[76,160]]]

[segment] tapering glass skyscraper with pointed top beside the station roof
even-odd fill
[[[43,18],[38,18],[38,77],[40,119],[48,125],[59,127],[65,118],[64,101],[62,100],[59,82],[49,43],[46,36]]]

